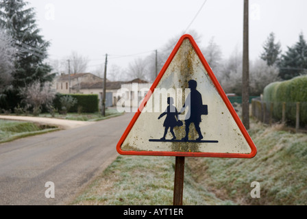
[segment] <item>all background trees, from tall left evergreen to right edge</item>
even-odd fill
[[[23,0],[0,1],[0,108],[11,109],[18,105],[35,108],[37,104],[29,100],[33,96],[37,102],[50,105],[49,99],[55,93],[51,81],[60,71],[68,73],[84,72],[88,59],[72,52],[65,60],[48,60],[47,49],[50,42],[40,34],[36,25],[36,13]],[[108,66],[108,79],[125,81],[131,78],[152,82],[156,78],[156,68],[160,72],[177,40],[183,33],[169,39],[160,49],[158,56],[152,51],[146,57],[138,57],[127,68],[119,65]],[[198,45],[201,36],[197,31],[190,33]],[[307,44],[304,34],[298,41],[282,52],[280,42],[275,42],[275,34],[269,34],[263,44],[262,53],[250,61],[250,94],[259,95],[267,84],[286,80],[307,73]],[[214,74],[227,93],[241,95],[242,52],[234,49],[230,57],[222,58],[221,47],[211,38],[206,47],[200,47]],[[156,60],[156,58],[158,58]],[[70,60],[71,68],[69,68]],[[102,75],[97,68],[93,73]],[[37,109],[38,108],[38,109]]]

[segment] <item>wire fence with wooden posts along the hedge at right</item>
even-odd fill
[[[284,123],[295,131],[307,130],[307,102],[268,102],[260,98],[251,100],[251,114],[262,123]]]

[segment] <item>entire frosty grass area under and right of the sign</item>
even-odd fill
[[[184,205],[307,205],[307,135],[251,120],[253,159],[186,157]],[[174,157],[119,156],[72,205],[172,205]],[[260,198],[251,198],[251,182]]]

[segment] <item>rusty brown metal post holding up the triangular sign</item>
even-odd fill
[[[184,192],[184,157],[176,157],[173,205],[182,205]]]

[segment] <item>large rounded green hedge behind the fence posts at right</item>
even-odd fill
[[[282,103],[286,103],[286,118],[292,124],[299,102],[299,123],[307,125],[307,75],[270,83],[263,91],[263,100],[273,102],[273,117],[278,120],[282,118]]]

